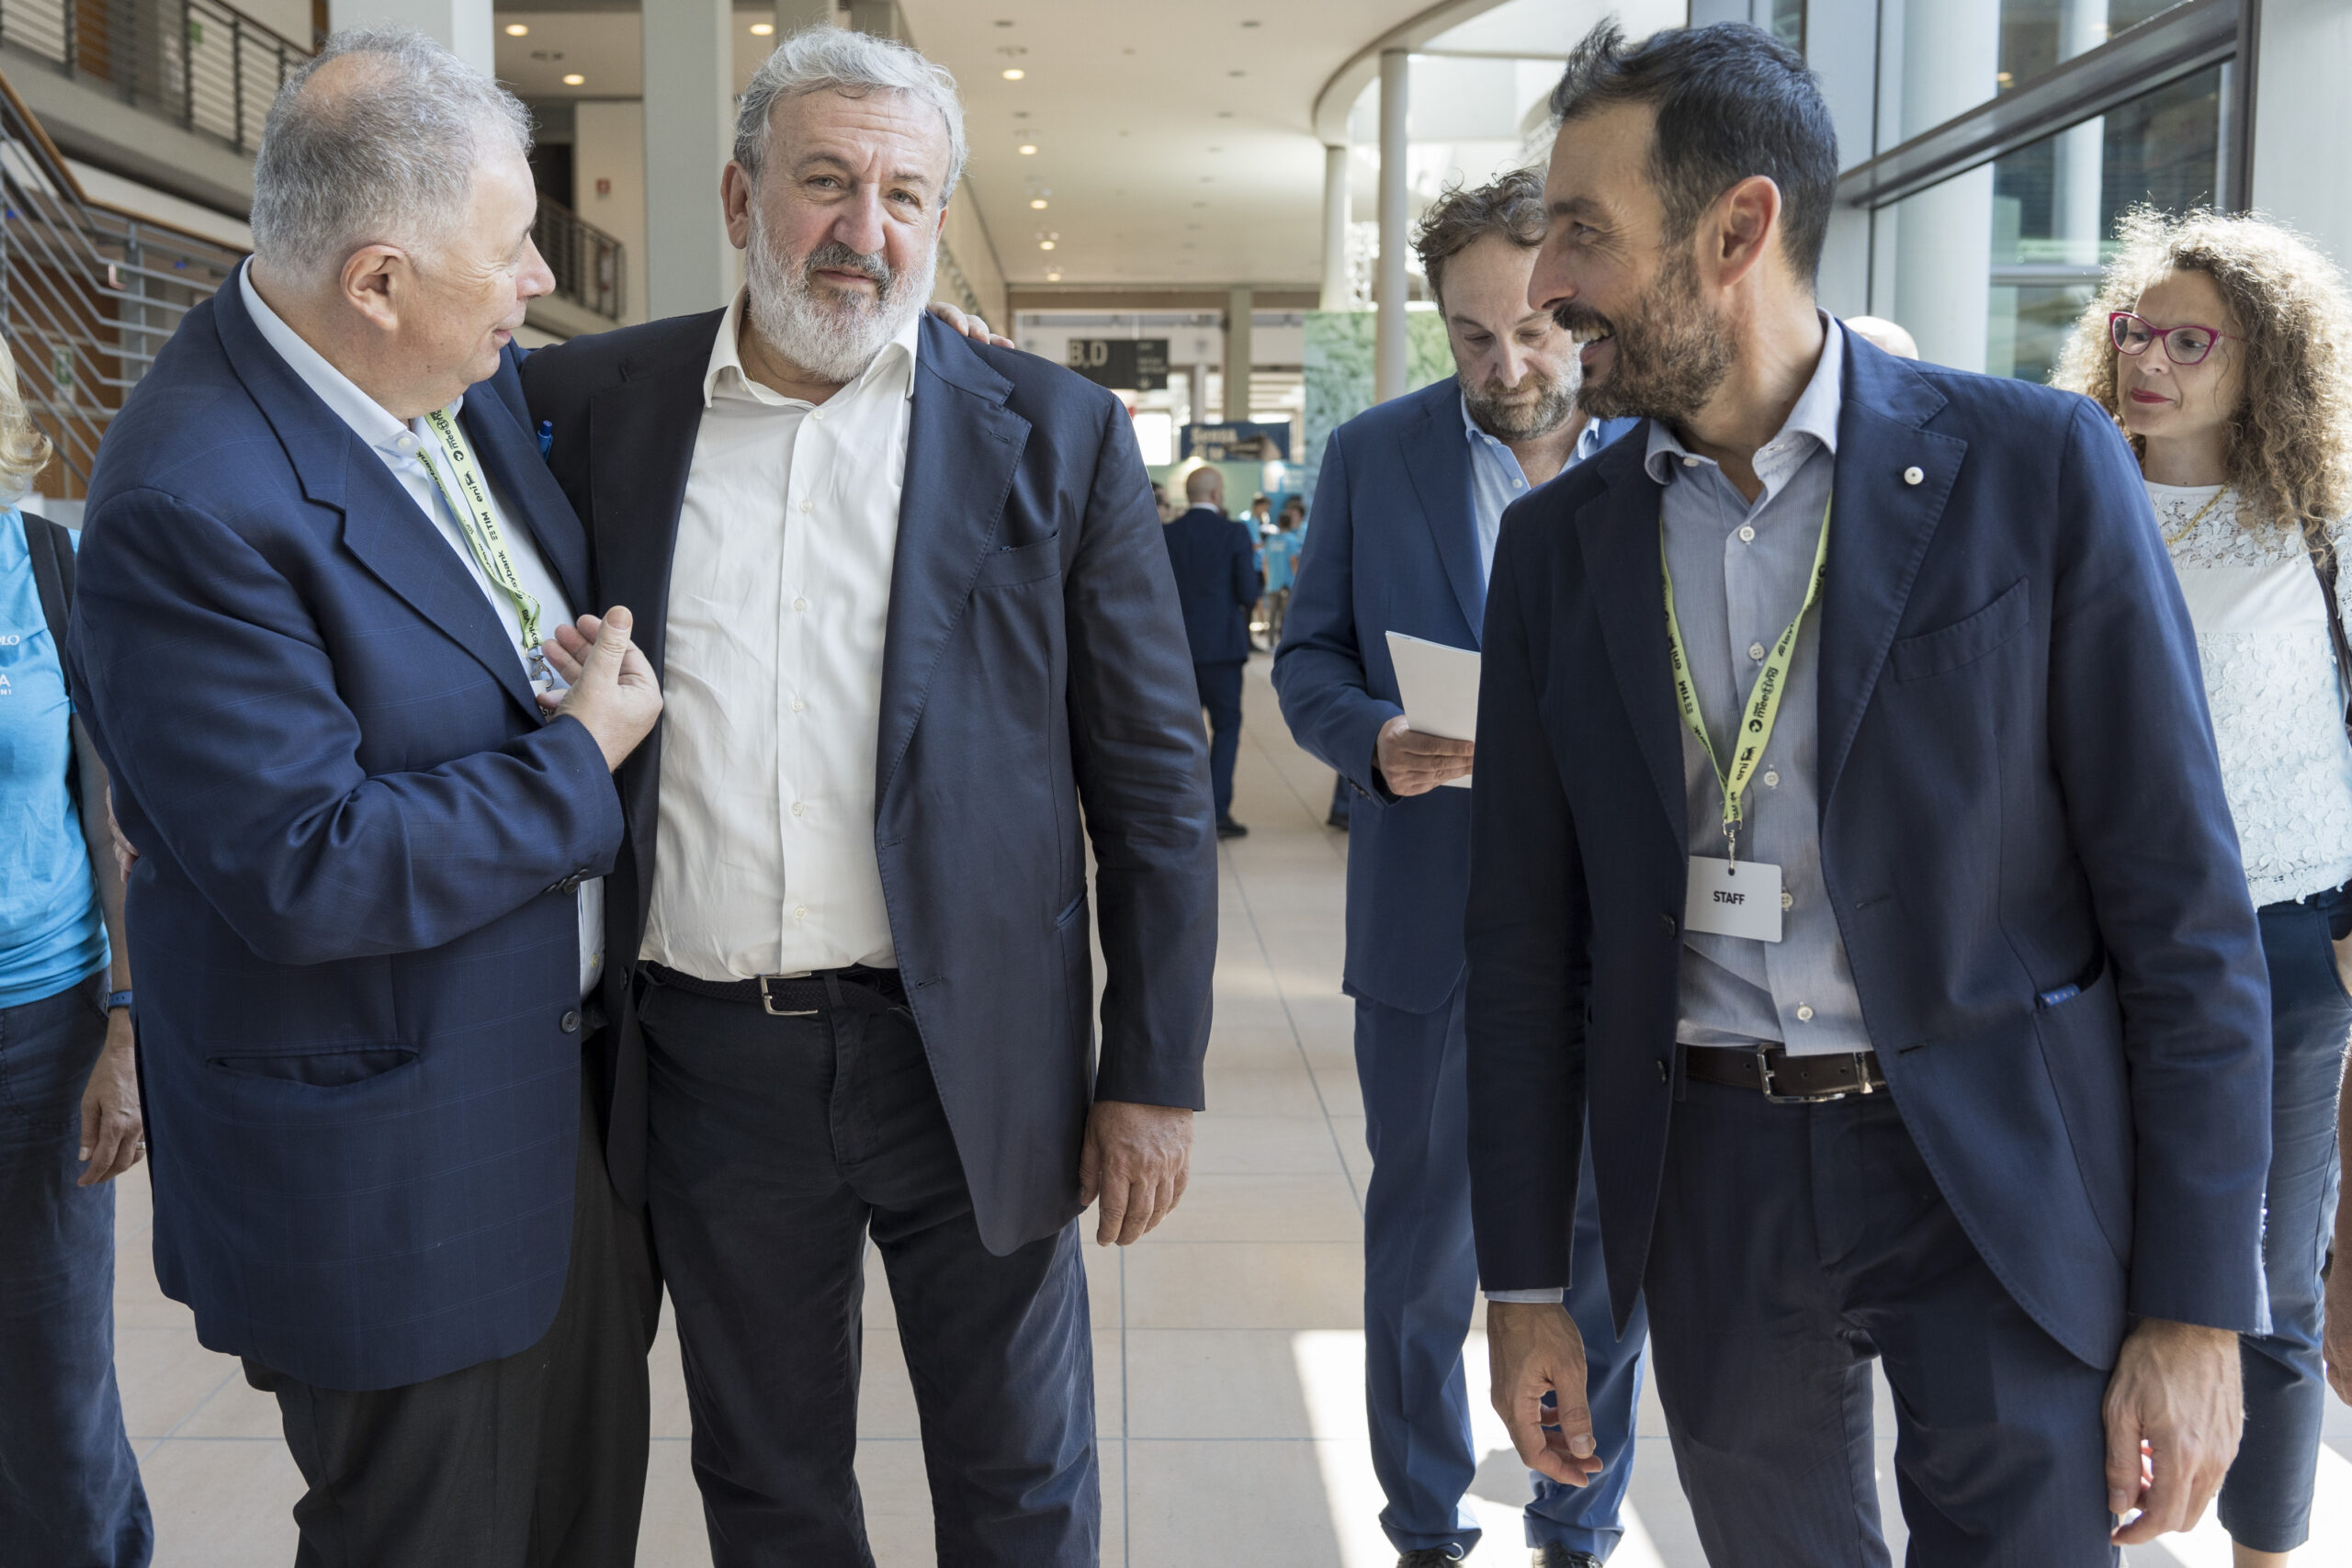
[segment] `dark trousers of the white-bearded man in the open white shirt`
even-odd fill
[[[856,1481],[866,1239],[922,1410],[941,1568],[1091,1568],[1077,1227],[997,1258],[908,1011],[647,985],[647,1192],[717,1568],[870,1568]]]

